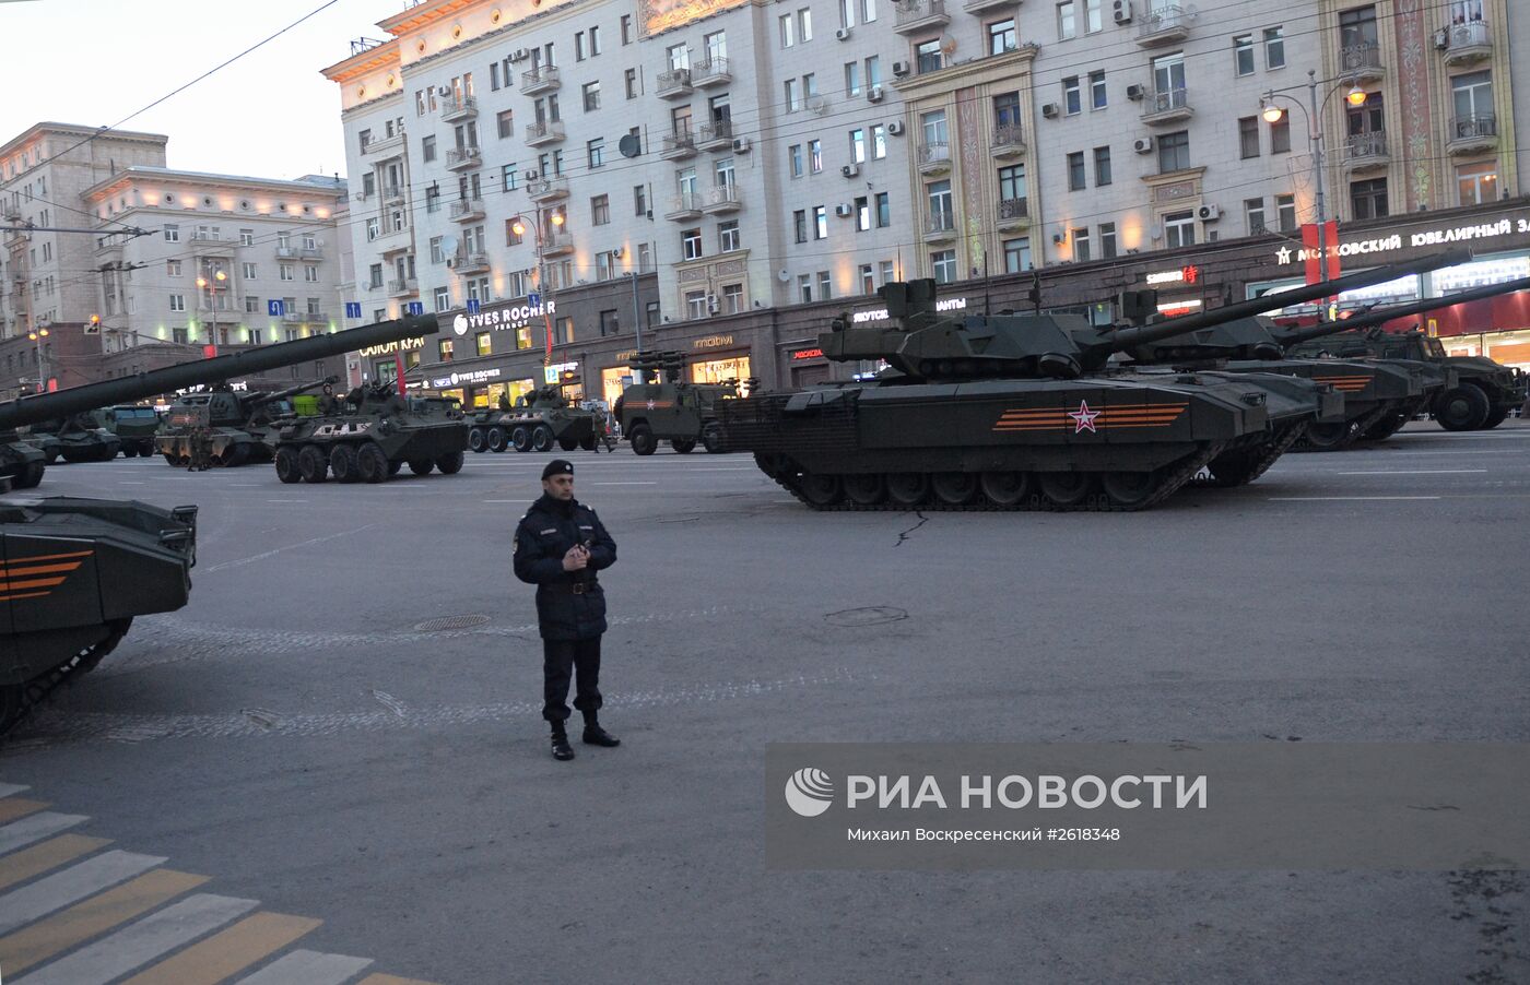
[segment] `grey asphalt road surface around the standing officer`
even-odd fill
[[[50,468],[40,492],[200,505],[196,587],[0,783],[435,982],[1530,979],[1522,876],[776,873],[760,783],[774,740],[1525,742],[1525,424],[1143,514],[814,514],[745,456],[577,453],[620,545],[624,743],[574,763],[509,571],[546,457]]]

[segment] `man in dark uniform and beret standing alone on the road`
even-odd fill
[[[584,743],[621,745],[600,727],[600,636],[606,593],[595,572],[617,563],[617,541],[600,517],[574,499],[574,465],[554,459],[542,470],[542,499],[516,528],[516,577],[537,586],[542,630],[542,717],[552,727],[552,759],[574,759],[563,723],[569,678],[574,707],[584,716]]]

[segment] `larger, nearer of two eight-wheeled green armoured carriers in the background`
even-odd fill
[[[340,413],[288,421],[275,439],[277,479],[288,483],[387,482],[407,463],[416,476],[462,471],[468,428],[438,405],[410,405],[389,382],[356,387]]]

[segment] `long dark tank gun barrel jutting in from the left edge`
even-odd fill
[[[245,373],[262,373],[282,366],[294,366],[309,359],[355,352],[367,346],[382,346],[418,335],[435,335],[439,330],[435,315],[419,315],[379,321],[327,335],[312,335],[291,343],[260,346],[226,356],[196,359],[164,369],[109,379],[106,382],[70,387],[57,393],[40,393],[0,404],[0,430],[37,424],[50,418],[63,418],[96,407],[138,401],[156,393],[168,393],[197,384],[220,382]]]

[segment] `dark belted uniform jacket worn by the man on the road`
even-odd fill
[[[563,555],[578,543],[589,548],[589,564],[563,571]],[[537,586],[543,639],[592,639],[606,632],[606,593],[595,572],[615,563],[617,541],[578,500],[543,494],[516,528],[516,577]]]

